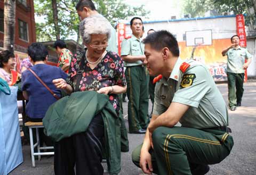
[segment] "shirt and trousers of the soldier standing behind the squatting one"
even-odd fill
[[[141,39],[134,35],[131,38],[122,41],[121,56],[144,55],[145,45]],[[140,129],[146,129],[149,123],[148,119],[148,81],[146,68],[142,61],[132,63],[124,62],[126,66],[125,78],[127,81],[128,102],[128,121],[129,131],[137,132]]]

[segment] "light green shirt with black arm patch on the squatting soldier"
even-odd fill
[[[183,62],[190,65],[185,72],[180,70]],[[183,127],[202,129],[228,124],[226,103],[209,69],[194,60],[178,59],[170,77],[157,82],[153,113],[161,115],[172,102],[190,106],[179,121]]]

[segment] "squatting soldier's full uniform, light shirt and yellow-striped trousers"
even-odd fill
[[[229,155],[233,138],[226,131],[227,107],[213,78],[201,63],[188,60],[189,68],[180,70],[178,59],[169,79],[163,77],[155,88],[153,114],[164,113],[171,102],[190,106],[182,116],[181,127],[159,127],[153,132],[150,150],[157,174],[189,174],[195,165],[219,163]],[[177,109],[178,110],[178,109]],[[140,149],[132,153],[139,166]]]

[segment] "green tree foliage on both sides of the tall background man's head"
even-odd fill
[[[37,41],[49,41],[56,38],[51,3],[51,0],[34,1],[36,15],[44,18],[42,21],[36,21]],[[75,0],[57,0],[61,39],[77,37],[79,18],[76,13],[76,3]],[[146,16],[149,13],[144,10],[143,5],[131,7],[122,3],[121,0],[95,0],[94,4],[98,12],[105,16],[113,26],[117,24],[119,19],[125,19],[127,16]]]

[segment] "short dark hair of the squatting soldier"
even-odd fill
[[[149,44],[156,51],[161,51],[162,48],[167,47],[173,56],[180,56],[178,41],[171,32],[167,30],[159,30],[148,35],[143,43]]]

